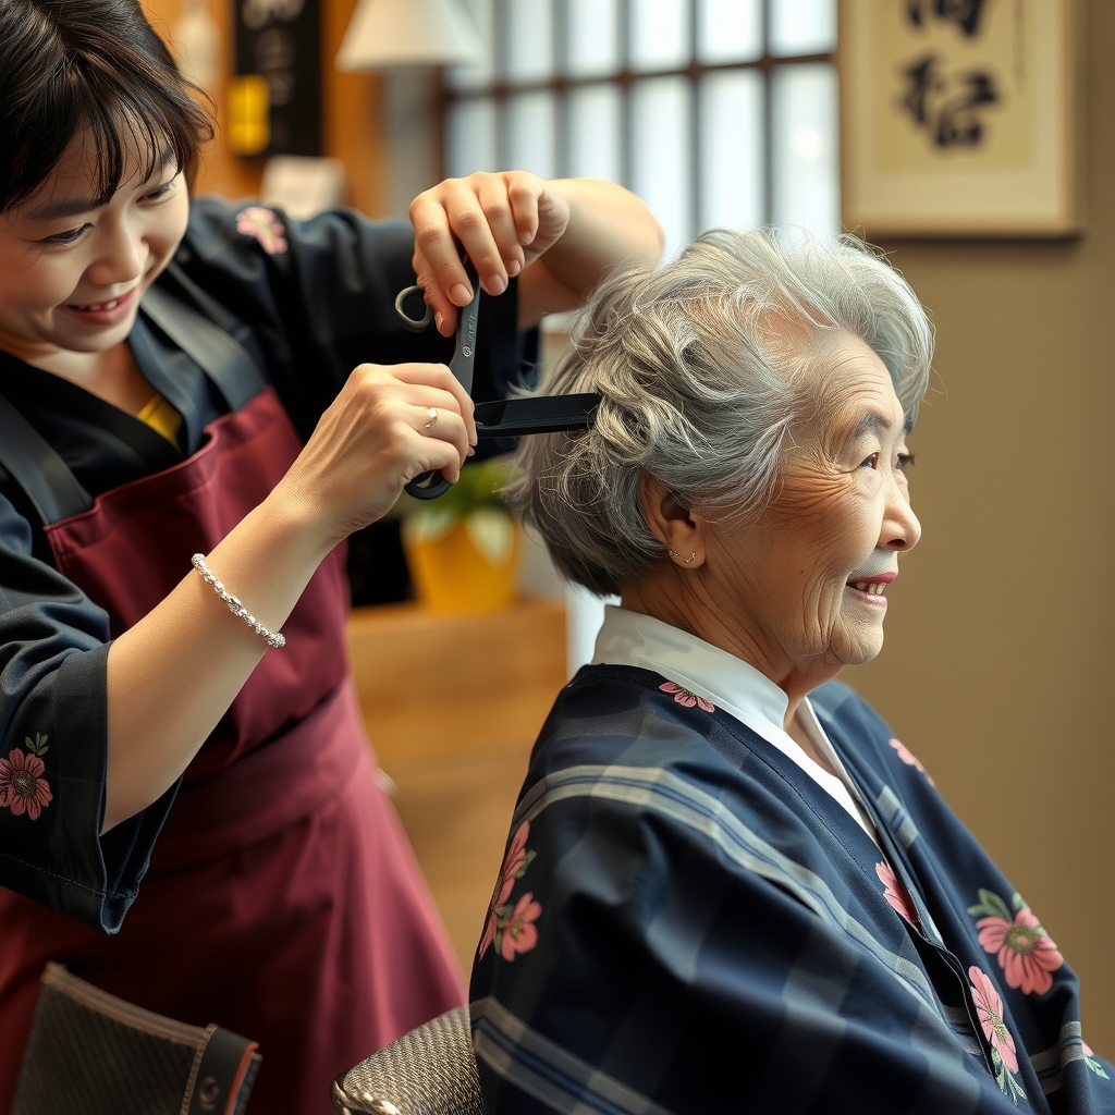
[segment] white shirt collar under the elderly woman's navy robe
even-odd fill
[[[704,697],[793,759],[822,789],[843,806],[874,841],[875,833],[816,712],[806,697],[798,706],[802,727],[828,760],[830,774],[806,755],[786,731],[789,698],[765,673],[741,658],[704,639],[641,612],[609,604],[597,636],[593,666],[639,666]],[[878,843],[878,841],[875,841]]]

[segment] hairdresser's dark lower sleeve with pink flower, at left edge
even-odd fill
[[[116,932],[171,791],[104,837],[108,621],[0,495],[0,886]]]

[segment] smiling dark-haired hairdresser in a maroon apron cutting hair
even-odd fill
[[[500,295],[492,392],[520,330],[660,249],[619,187],[523,173],[442,183],[414,230],[192,203],[195,93],[136,0],[0,0],[0,1111],[51,959],[258,1040],[266,1112],[327,1111],[462,1001],[353,699],[342,543],[475,444],[458,243]]]

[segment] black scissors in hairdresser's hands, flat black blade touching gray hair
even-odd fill
[[[465,273],[473,288],[472,301],[462,307],[457,318],[457,333],[449,370],[457,382],[469,394],[473,392],[473,367],[476,362],[476,324],[479,319],[481,285],[476,269],[466,259]],[[425,304],[420,318],[411,318],[406,303],[424,295],[421,287],[406,287],[395,299],[395,314],[404,329],[419,333],[429,328],[434,311]],[[560,434],[565,430],[589,429],[597,417],[600,396],[594,392],[581,395],[540,395],[529,399],[495,399],[477,403],[473,411],[477,437],[522,437],[529,434]],[[418,500],[436,500],[445,495],[453,485],[440,473],[430,471],[408,481],[404,491]]]

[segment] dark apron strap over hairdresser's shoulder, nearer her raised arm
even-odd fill
[[[181,269],[172,266],[174,279],[191,294],[196,298],[200,293],[205,301],[213,301]],[[230,410],[239,410],[266,387],[244,346],[192,306],[154,285],[144,294],[140,309],[216,384]]]

